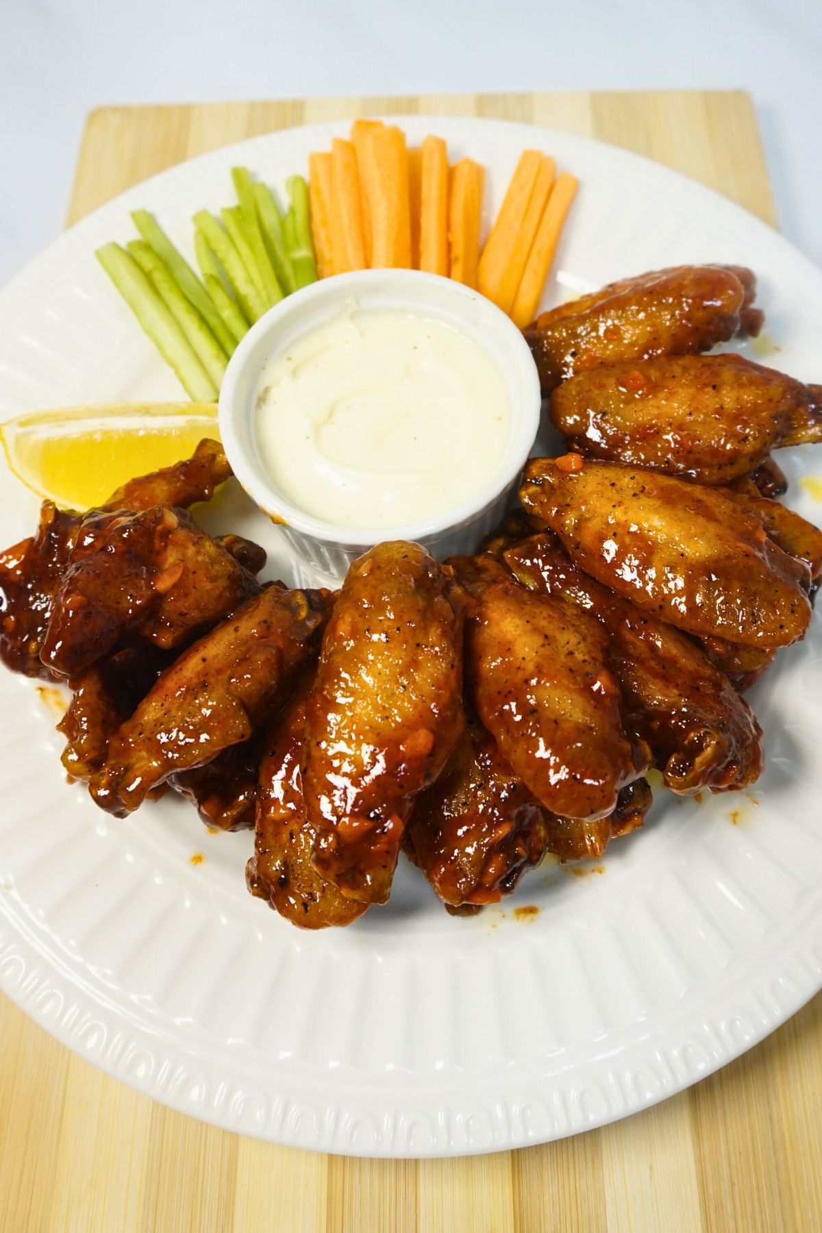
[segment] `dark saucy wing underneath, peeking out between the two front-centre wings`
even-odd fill
[[[497,904],[546,852],[562,859],[601,856],[614,835],[642,825],[651,805],[647,780],[620,793],[596,821],[556,817],[525,787],[476,719],[433,787],[420,793],[409,822],[414,856],[451,907]]]

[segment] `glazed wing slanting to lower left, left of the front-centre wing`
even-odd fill
[[[184,651],[111,737],[89,784],[101,809],[131,813],[173,772],[248,741],[315,655],[329,600],[327,591],[269,586]]]

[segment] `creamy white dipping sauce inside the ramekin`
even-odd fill
[[[458,506],[508,440],[495,363],[454,326],[348,306],[262,367],[260,457],[283,497],[338,526],[401,526]]]

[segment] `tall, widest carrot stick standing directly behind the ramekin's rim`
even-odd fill
[[[408,150],[394,125],[368,133],[364,181],[371,211],[371,265],[410,268]]]

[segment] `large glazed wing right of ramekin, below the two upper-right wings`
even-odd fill
[[[520,498],[587,573],[672,625],[765,649],[807,630],[808,567],[715,488],[571,454],[531,459]]]

